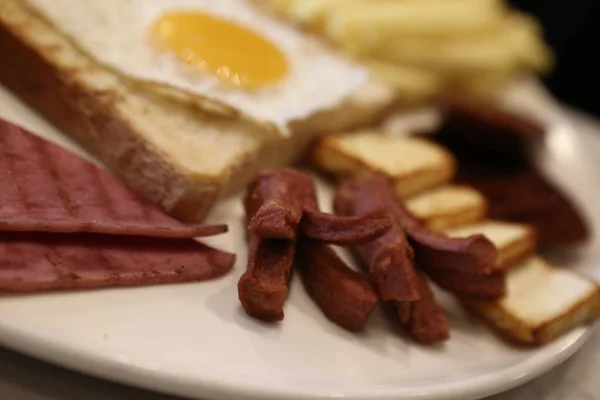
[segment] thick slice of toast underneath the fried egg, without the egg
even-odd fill
[[[393,91],[373,82],[283,137],[233,110],[187,107],[131,86],[19,0],[0,0],[0,11],[0,83],[185,220],[202,220],[261,168],[292,163],[315,135],[372,122],[393,102]]]

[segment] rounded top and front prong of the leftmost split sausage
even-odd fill
[[[265,170],[248,187],[248,267],[238,296],[248,315],[266,322],[284,317],[296,237],[306,199],[315,196],[310,177],[289,168]]]

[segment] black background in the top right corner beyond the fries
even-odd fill
[[[512,0],[535,15],[555,54],[554,71],[543,77],[563,102],[600,115],[600,2],[598,0]]]

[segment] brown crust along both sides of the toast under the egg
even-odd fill
[[[30,21],[14,18],[11,8],[27,19],[38,20],[37,17],[29,15],[14,0],[0,0],[0,8],[8,9],[0,13],[0,54],[3,55],[0,83],[75,138],[142,196],[184,220],[203,220],[219,197],[242,188],[260,169],[293,163],[315,135],[381,118],[393,100],[393,92],[382,86],[370,101],[355,101],[361,98],[363,91],[359,90],[336,109],[295,123],[294,133],[289,138],[259,142],[248,154],[232,160],[220,175],[193,173],[145,140],[123,109],[115,105],[117,101],[135,97],[134,88],[123,82],[105,90],[92,87],[85,77],[87,71],[65,68],[53,56],[52,49],[29,40]],[[40,20],[37,23],[46,25]],[[45,29],[52,30],[52,27],[45,26]],[[66,47],[59,50],[79,53],[73,46]],[[87,63],[95,73],[118,81],[93,61]],[[132,112],[149,112],[138,108]]]

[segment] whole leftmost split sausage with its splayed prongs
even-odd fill
[[[306,291],[327,318],[351,331],[362,329],[377,295],[327,243],[371,241],[390,228],[387,214],[381,210],[357,218],[323,214],[312,178],[291,168],[259,173],[248,187],[244,208],[250,254],[238,295],[248,315],[266,322],[283,319],[296,257]]]

